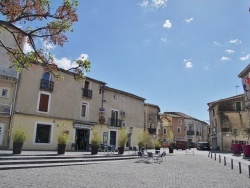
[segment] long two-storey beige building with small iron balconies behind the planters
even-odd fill
[[[20,74],[13,128],[22,125],[28,131],[24,149],[56,150],[62,129],[69,134],[67,149],[74,143],[79,150],[89,150],[93,131],[104,144],[118,146],[121,127],[129,135],[127,146],[137,145],[137,134],[143,131],[144,98],[88,77],[77,82],[72,74],[60,71],[64,81],[40,66]],[[100,116],[105,118],[102,124]]]

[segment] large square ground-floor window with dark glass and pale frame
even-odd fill
[[[50,144],[52,142],[52,124],[36,124],[35,143]]]

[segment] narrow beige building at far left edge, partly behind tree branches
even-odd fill
[[[1,29],[0,40],[8,48],[17,48],[15,39],[8,31]],[[9,27],[11,31],[18,31],[18,28]],[[20,44],[22,47],[22,44]],[[10,143],[10,127],[12,113],[16,98],[16,87],[18,72],[9,68],[12,65],[10,58],[0,45],[0,148],[7,149]]]

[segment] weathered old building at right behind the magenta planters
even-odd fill
[[[238,130],[236,141],[247,141],[241,133],[249,125],[245,111],[244,95],[236,95],[208,103],[210,119],[210,141],[213,150],[231,151],[235,137],[233,129]]]

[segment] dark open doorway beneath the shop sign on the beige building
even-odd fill
[[[89,150],[89,130],[76,129],[75,143],[78,145],[79,150]]]

